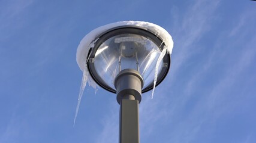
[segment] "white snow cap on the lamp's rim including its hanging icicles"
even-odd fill
[[[157,74],[158,74],[158,66],[160,64],[160,61],[164,57],[166,50],[168,54],[171,54],[171,51],[173,49],[173,40],[171,38],[171,35],[162,27],[149,23],[149,22],[144,22],[144,21],[119,21],[116,23],[110,23],[105,26],[98,27],[97,29],[92,30],[88,35],[86,35],[82,41],[80,42],[78,48],[77,48],[77,64],[79,65],[80,69],[83,71],[83,79],[82,79],[82,85],[80,88],[80,93],[79,93],[79,100],[77,104],[77,110],[76,110],[76,116],[79,110],[79,104],[83,95],[83,90],[85,89],[86,83],[89,84],[89,86],[92,86],[93,88],[97,89],[97,83],[94,82],[92,77],[89,74],[89,71],[87,69],[86,59],[89,49],[94,48],[95,42],[97,42],[98,39],[96,39],[101,33],[106,32],[109,29],[112,29],[113,27],[118,27],[118,26],[138,26],[138,27],[143,27],[151,32],[155,33],[156,37],[159,37],[163,40],[164,43],[164,49],[161,52],[161,55],[158,58],[158,62],[156,64],[156,70],[155,70],[155,79],[154,79],[154,87],[153,91],[155,90],[155,85],[156,85],[156,79],[157,79]],[[153,91],[152,91],[152,98],[153,98]],[[75,120],[76,120],[75,116]],[[74,122],[75,122],[74,120]]]

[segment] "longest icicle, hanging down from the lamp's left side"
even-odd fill
[[[77,113],[79,111],[80,102],[81,102],[82,97],[83,97],[83,91],[85,90],[85,86],[86,86],[86,83],[87,83],[87,80],[88,80],[88,72],[86,72],[86,68],[87,68],[87,66],[85,65],[85,69],[83,70],[83,78],[82,78],[82,83],[81,83],[81,86],[80,86],[79,97],[78,97],[77,108],[76,108],[76,115],[75,115],[75,118],[74,118],[74,125],[73,126],[75,126],[75,124],[76,124]]]

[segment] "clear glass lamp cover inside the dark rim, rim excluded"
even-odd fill
[[[98,47],[94,66],[101,79],[113,89],[119,71],[137,70],[144,79],[144,88],[154,80],[156,62],[160,54],[159,47],[150,39],[135,34],[121,34],[107,39]],[[158,73],[162,64],[161,61]]]

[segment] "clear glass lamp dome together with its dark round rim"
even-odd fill
[[[134,69],[143,77],[142,92],[152,88],[156,62],[161,54],[160,46],[162,43],[159,39],[155,40],[155,35],[152,37],[154,39],[144,33],[132,32],[132,30],[124,32],[124,29],[121,32],[115,31],[103,35],[95,43],[95,47],[92,48],[88,58],[88,69],[98,85],[115,92],[114,82],[118,73],[124,69]],[[167,61],[168,59],[170,61],[170,57],[167,58]],[[164,76],[161,76],[163,69],[167,73],[168,67],[164,60],[159,65],[159,79]]]

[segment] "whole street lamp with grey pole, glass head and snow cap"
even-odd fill
[[[171,36],[152,23],[123,21],[92,31],[85,41],[87,46],[77,49],[77,62],[97,85],[117,95],[119,142],[139,142],[141,93],[159,85],[167,75]]]

